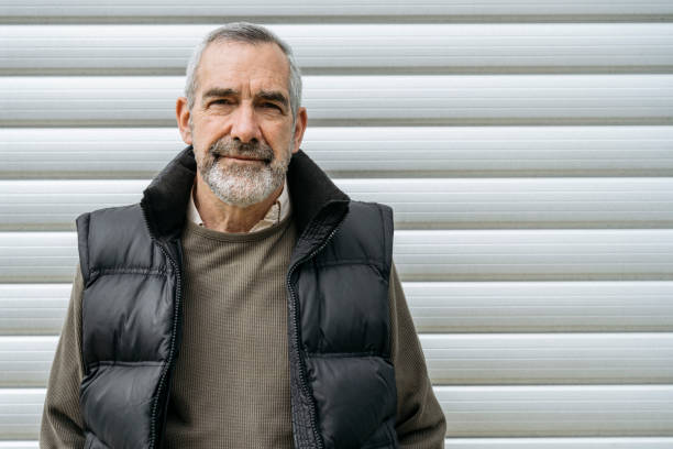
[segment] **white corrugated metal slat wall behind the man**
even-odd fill
[[[304,150],[391,205],[451,449],[673,448],[673,2],[0,1],[0,448],[36,447],[74,218],[183,147],[191,47],[296,50]]]

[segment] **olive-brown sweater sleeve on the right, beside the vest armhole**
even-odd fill
[[[426,359],[407,306],[395,263],[390,270],[390,343],[397,386],[395,428],[399,447],[438,449],[444,447],[446,421],[432,391]]]

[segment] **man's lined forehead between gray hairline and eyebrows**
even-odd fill
[[[273,42],[213,42],[203,51],[197,75],[201,91],[221,87],[288,94],[289,63]]]

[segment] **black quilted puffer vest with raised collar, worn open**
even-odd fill
[[[86,449],[162,447],[195,174],[187,147],[139,205],[77,218]],[[295,447],[396,448],[391,209],[351,201],[301,150],[287,179],[299,236],[286,277]]]

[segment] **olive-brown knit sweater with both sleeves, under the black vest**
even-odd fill
[[[291,213],[250,233],[188,222],[184,339],[164,448],[291,448],[285,272],[297,239]],[[82,448],[81,272],[77,270],[44,404],[41,448]],[[432,392],[401,284],[390,275],[393,363],[402,448],[442,448]]]

